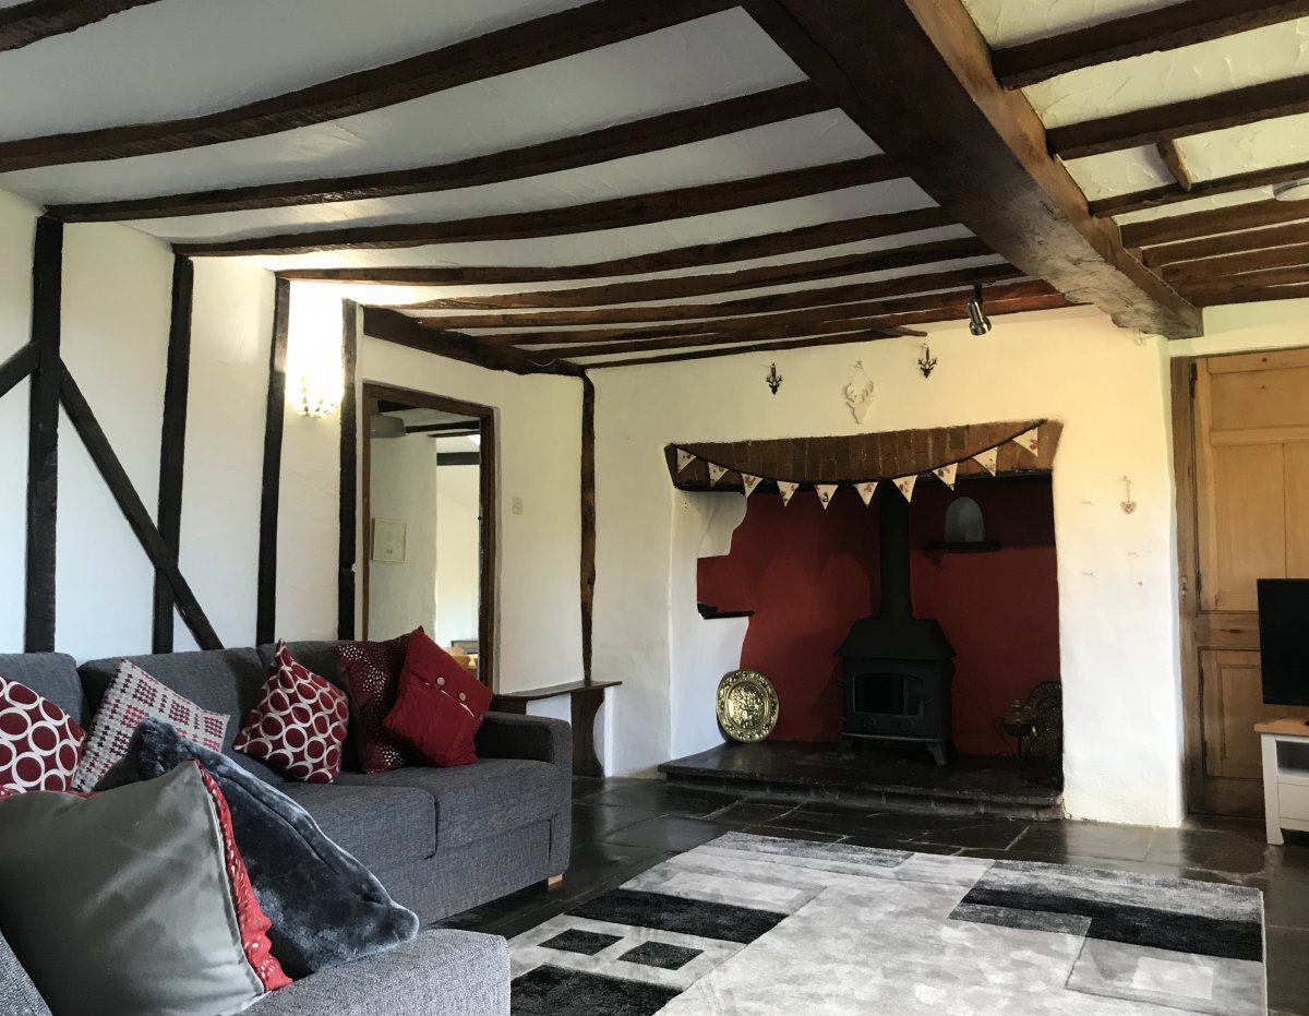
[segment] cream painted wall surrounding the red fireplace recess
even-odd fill
[[[1049,416],[1064,422],[1054,499],[1067,808],[1175,825],[1182,715],[1165,342],[1135,340],[1094,312],[1062,312],[1000,319],[983,339],[937,329],[932,354],[940,363],[929,380],[912,339],[596,372],[594,669],[624,682],[613,770],[648,774],[669,758],[682,721],[675,703],[707,680],[674,666],[672,652],[691,590],[674,583],[681,495],[665,444]],[[763,384],[772,360],[785,377],[776,397]],[[842,398],[855,361],[876,382],[863,427]],[[1118,508],[1123,475],[1140,505],[1134,515]]]

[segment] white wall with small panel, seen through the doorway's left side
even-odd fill
[[[370,445],[373,518],[404,524],[404,560],[370,560],[368,636],[391,639],[436,618],[436,443],[421,433]],[[367,521],[367,520],[365,520]],[[372,547],[365,541],[364,547]]]

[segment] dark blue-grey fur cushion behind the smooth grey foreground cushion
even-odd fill
[[[225,755],[182,740],[164,720],[136,728],[127,754],[96,789],[154,779],[192,758],[226,799],[237,847],[272,922],[272,954],[288,977],[363,960],[418,934],[418,915],[393,901],[309,812]]]

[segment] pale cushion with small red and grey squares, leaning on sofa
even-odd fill
[[[123,660],[92,717],[90,737],[82,746],[73,789],[96,789],[110,766],[127,754],[132,732],[147,716],[173,724],[187,741],[211,752],[223,750],[228,716],[202,710],[191,699],[161,685],[136,664]]]

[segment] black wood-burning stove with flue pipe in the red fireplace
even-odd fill
[[[847,745],[853,738],[918,742],[944,766],[954,649],[940,625],[914,617],[908,501],[888,491],[878,509],[881,610],[876,618],[856,621],[836,651],[842,738]]]

